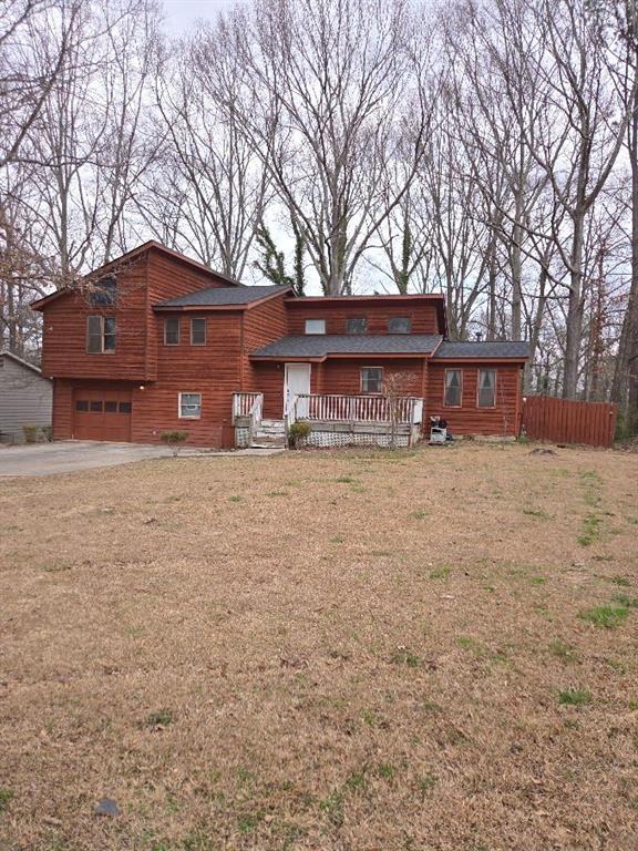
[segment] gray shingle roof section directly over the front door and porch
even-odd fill
[[[322,358],[327,355],[428,355],[441,342],[434,334],[317,334],[281,337],[250,352],[263,358]]]

